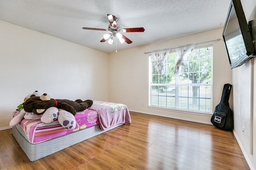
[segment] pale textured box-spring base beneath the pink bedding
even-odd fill
[[[23,131],[22,127],[20,127],[20,125],[12,127],[12,135],[20,144],[20,147],[28,156],[29,160],[35,161],[50,154],[53,154],[55,152],[58,152],[59,150],[70,147],[76,143],[82,142],[86,139],[104,133],[108,130],[114,129],[115,127],[118,127],[122,124],[123,123],[115,125],[104,131],[100,129],[100,125],[96,125],[93,127],[89,127],[87,129],[69,133],[67,135],[50,139],[48,141],[44,141],[37,144],[31,144],[25,139],[25,137],[23,136],[24,134],[22,135],[22,133],[25,132]]]

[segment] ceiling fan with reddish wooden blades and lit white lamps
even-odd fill
[[[113,16],[112,14],[107,14],[108,20],[109,20],[109,25],[108,29],[101,29],[101,28],[88,28],[88,27],[83,27],[82,29],[90,29],[90,30],[99,30],[99,31],[110,31],[111,33],[106,33],[103,35],[103,39],[100,42],[105,42],[108,40],[109,44],[112,44],[114,41],[114,37],[117,37],[120,41],[120,43],[132,43],[130,39],[128,39],[126,36],[124,36],[122,33],[128,33],[128,32],[144,32],[143,27],[138,27],[138,28],[121,28],[120,25],[116,23],[118,18]]]

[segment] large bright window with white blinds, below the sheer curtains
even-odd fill
[[[212,46],[194,48],[179,76],[174,75],[175,51],[168,54],[162,76],[150,58],[149,106],[212,112]]]

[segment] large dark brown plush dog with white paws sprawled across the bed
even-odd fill
[[[46,93],[40,97],[30,96],[24,103],[23,109],[26,112],[33,112],[36,115],[42,115],[41,121],[50,123],[58,117],[59,123],[65,129],[74,129],[76,127],[76,119],[74,115],[78,111],[84,111],[92,106],[92,100],[76,101],[71,100],[55,100],[50,98]],[[55,116],[52,116],[55,115]]]

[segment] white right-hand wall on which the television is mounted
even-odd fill
[[[256,22],[256,1],[241,2],[246,20]],[[256,169],[256,59],[232,69],[232,83],[234,134],[250,168]]]

